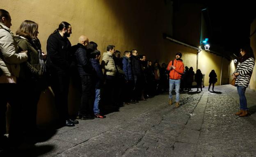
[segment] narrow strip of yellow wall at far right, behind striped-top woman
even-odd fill
[[[256,30],[256,18],[254,19],[254,21],[251,23],[251,33],[254,33],[254,31]],[[254,33],[251,36],[251,48],[254,51],[254,57],[256,57],[256,33]],[[254,71],[251,75],[251,80],[250,80],[250,84],[249,84],[249,88],[252,90],[256,90],[256,65],[254,65]]]

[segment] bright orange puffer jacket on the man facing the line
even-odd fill
[[[174,62],[174,66],[176,67],[175,69],[171,69],[171,64]],[[173,80],[178,80],[181,79],[181,76],[184,74],[184,64],[182,60],[171,60],[167,66],[167,70],[170,71],[169,73],[169,78]]]

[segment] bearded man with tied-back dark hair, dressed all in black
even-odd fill
[[[50,74],[50,86],[55,94],[55,105],[59,113],[61,123],[65,126],[75,126],[78,121],[69,118],[68,93],[69,93],[69,65],[71,43],[71,25],[61,22],[47,40],[47,62]]]

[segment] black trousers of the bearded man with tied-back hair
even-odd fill
[[[55,106],[61,120],[69,119],[69,75],[64,71],[50,71],[50,86],[55,95]]]

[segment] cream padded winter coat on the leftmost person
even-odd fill
[[[0,22],[0,83],[9,83],[9,79],[16,80],[20,73],[20,63],[26,60],[26,53],[18,53],[11,30]]]

